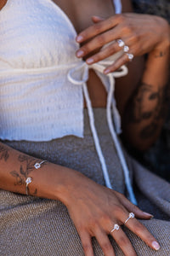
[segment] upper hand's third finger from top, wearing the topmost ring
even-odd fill
[[[114,55],[116,52],[120,51],[120,47],[115,42],[113,44],[108,45],[105,47],[105,49],[101,49],[99,53],[92,55],[90,58],[86,60],[88,64],[93,64],[98,61],[102,61],[107,57],[110,57],[111,55]]]

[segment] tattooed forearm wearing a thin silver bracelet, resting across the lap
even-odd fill
[[[67,202],[67,191],[74,186],[74,178],[81,176],[77,171],[64,166],[44,162],[39,169],[34,165],[42,160],[23,154],[0,143],[0,189],[26,195],[26,178],[29,195]]]

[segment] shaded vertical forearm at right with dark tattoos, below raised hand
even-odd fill
[[[127,140],[139,150],[155,142],[165,120],[168,67],[167,40],[148,55],[140,84],[127,102],[122,129]]]

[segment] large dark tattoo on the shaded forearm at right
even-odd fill
[[[165,118],[166,114],[166,87],[153,91],[150,84],[141,84],[133,98],[133,103],[128,108],[127,118],[130,123],[140,123],[150,120],[150,124],[140,131],[139,136],[147,139],[156,134],[159,128],[159,121]]]

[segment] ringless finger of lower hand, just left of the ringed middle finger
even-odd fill
[[[105,256],[116,256],[113,247],[111,246],[111,241],[109,240],[104,230],[98,230],[98,232],[95,234],[95,237],[99,242],[99,245],[102,248]]]

